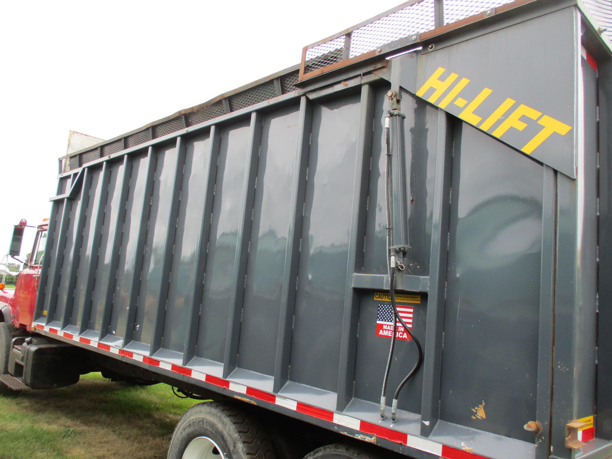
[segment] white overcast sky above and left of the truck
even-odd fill
[[[0,257],[12,225],[48,217],[69,130],[109,139],[136,129],[297,64],[305,45],[400,3],[5,2]]]

